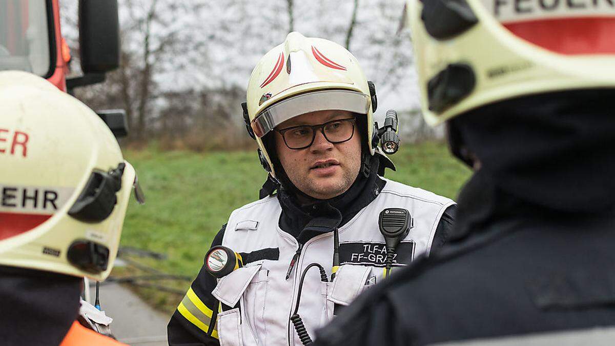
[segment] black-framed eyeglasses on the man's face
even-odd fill
[[[330,143],[346,142],[354,135],[354,124],[355,118],[337,119],[319,125],[292,126],[275,131],[282,135],[288,148],[300,150],[308,148],[314,143],[317,129],[320,129],[322,135]]]

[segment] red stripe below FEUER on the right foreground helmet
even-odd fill
[[[559,54],[615,54],[615,17],[504,23],[515,36]]]

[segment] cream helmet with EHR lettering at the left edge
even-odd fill
[[[136,183],[114,135],[25,72],[0,72],[0,114],[0,265],[104,280]]]

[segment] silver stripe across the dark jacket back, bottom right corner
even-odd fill
[[[577,329],[574,331],[543,332],[520,336],[450,341],[432,346],[607,346],[615,344],[615,327]]]

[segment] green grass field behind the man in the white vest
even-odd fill
[[[127,151],[146,204],[131,203],[122,245],[167,254],[146,264],[166,273],[196,276],[213,236],[233,209],[258,198],[266,177],[255,151],[193,153],[148,148]],[[391,156],[397,172],[386,177],[455,198],[470,171],[453,159],[443,143],[407,144]],[[144,262],[143,260],[140,260]],[[189,283],[164,283],[187,289]],[[162,310],[175,308],[181,296],[140,289]]]

